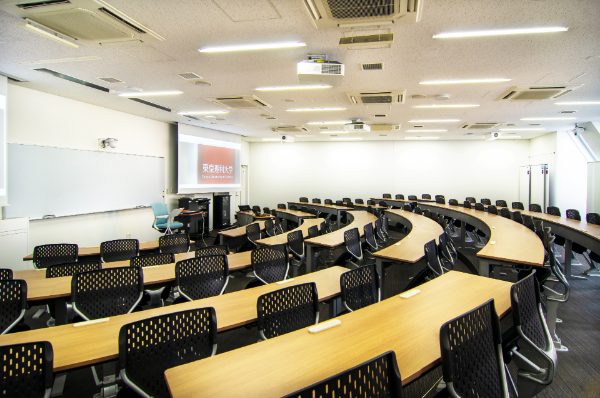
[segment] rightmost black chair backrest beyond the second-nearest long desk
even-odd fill
[[[258,247],[250,255],[254,274],[262,283],[287,279],[289,271],[286,245]]]

